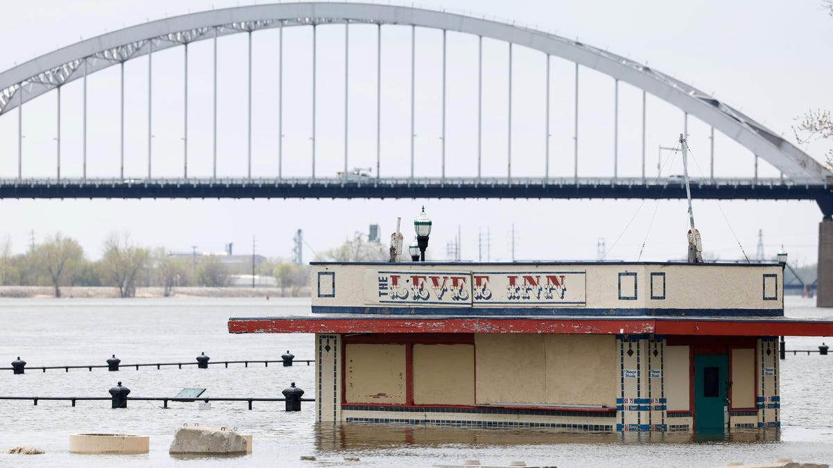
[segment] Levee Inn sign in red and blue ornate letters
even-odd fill
[[[584,306],[585,271],[366,270],[367,304]]]

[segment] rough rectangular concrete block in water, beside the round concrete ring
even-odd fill
[[[251,437],[251,436],[249,436]],[[179,426],[173,433],[172,454],[246,454],[247,436],[224,427]]]

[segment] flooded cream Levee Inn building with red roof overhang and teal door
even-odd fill
[[[313,263],[320,422],[706,431],[778,427],[781,264]]]

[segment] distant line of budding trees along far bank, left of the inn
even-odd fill
[[[282,259],[262,261],[257,275],[272,276],[282,296],[297,296],[309,282],[309,267]],[[172,256],[164,247],[149,248],[127,234],[111,234],[100,260],[88,260],[78,241],[60,232],[12,254],[12,243],[0,240],[0,286],[51,286],[61,296],[62,286],[112,286],[121,297],[136,295],[139,286],[162,287],[169,296],[177,286],[228,286],[231,277],[252,274],[252,268],[221,261],[221,256]]]

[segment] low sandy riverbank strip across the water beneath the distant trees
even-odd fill
[[[292,294],[288,288],[287,296]],[[136,297],[155,298],[164,297],[161,287],[137,287]],[[168,297],[282,297],[279,287],[175,287]],[[309,297],[310,288],[304,287],[298,291],[297,297]],[[48,299],[55,297],[55,289],[51,286],[0,286],[2,298],[32,298]],[[111,286],[66,286],[61,288],[61,299],[73,298],[117,298],[118,289]]]

